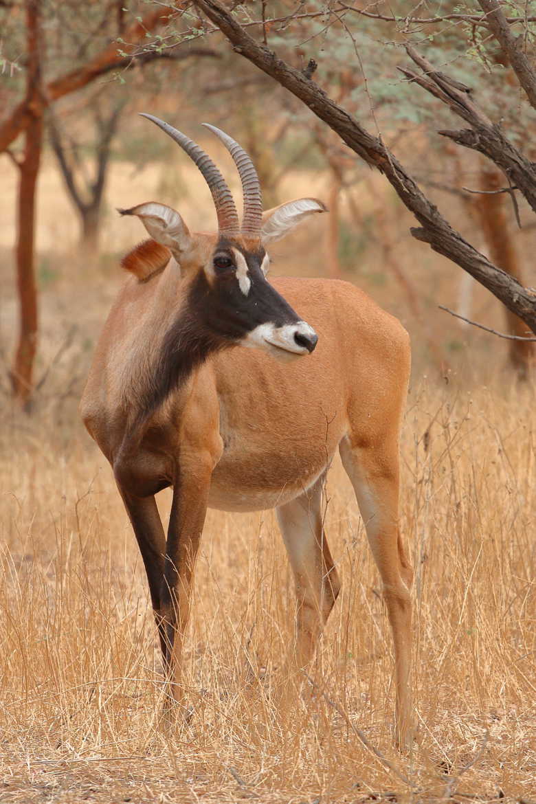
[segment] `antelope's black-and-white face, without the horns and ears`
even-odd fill
[[[203,301],[194,302],[198,314],[219,338],[277,357],[307,355],[317,345],[317,334],[267,281],[268,262],[262,246],[248,251],[219,237],[204,276],[194,281],[199,289],[205,285]]]

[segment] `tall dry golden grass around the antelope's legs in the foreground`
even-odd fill
[[[108,467],[67,423],[57,437],[47,410],[13,416],[0,464],[2,802],[433,798],[445,769],[456,777],[475,757],[452,792],[534,796],[533,413],[528,391],[411,393],[402,515],[416,568],[419,741],[409,758],[391,748],[378,577],[341,467],[331,475],[327,532],[344,585],[313,675],[409,784],[318,691],[274,709],[293,594],[272,513],[209,513],[186,650],[194,716],[163,736],[145,577]]]

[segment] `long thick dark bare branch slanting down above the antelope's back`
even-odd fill
[[[196,5],[219,27],[236,52],[272,76],[281,86],[300,98],[321,120],[325,121],[354,153],[367,164],[386,175],[404,205],[419,221],[420,228],[411,229],[417,240],[423,240],[432,249],[456,262],[477,281],[485,285],[505,306],[522,318],[536,333],[536,297],[508,273],[497,268],[477,252],[459,232],[444,219],[437,208],[423,195],[415,180],[377,137],[373,137],[345,109],[333,102],[312,80],[302,72],[279,59],[268,47],[255,39],[236,22],[235,18],[215,0],[195,0]],[[536,183],[534,185],[536,206]]]

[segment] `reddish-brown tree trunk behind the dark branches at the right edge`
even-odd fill
[[[483,190],[500,189],[504,184],[502,174],[489,165],[481,167],[481,187]],[[509,215],[505,203],[509,199],[504,194],[477,195],[473,204],[489,249],[489,255],[499,268],[522,282],[522,270],[519,265],[518,250],[513,242]],[[504,308],[506,326],[509,334],[527,337],[529,327],[521,318]],[[534,359],[534,343],[530,341],[509,341],[509,360],[518,372],[519,379],[526,379],[530,364]]]

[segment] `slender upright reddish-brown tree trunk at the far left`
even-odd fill
[[[43,100],[41,96],[40,2],[27,2],[27,126],[17,207],[17,286],[20,305],[18,344],[11,370],[14,396],[27,406],[31,395],[37,349],[37,293],[35,287],[35,188],[43,144]]]

